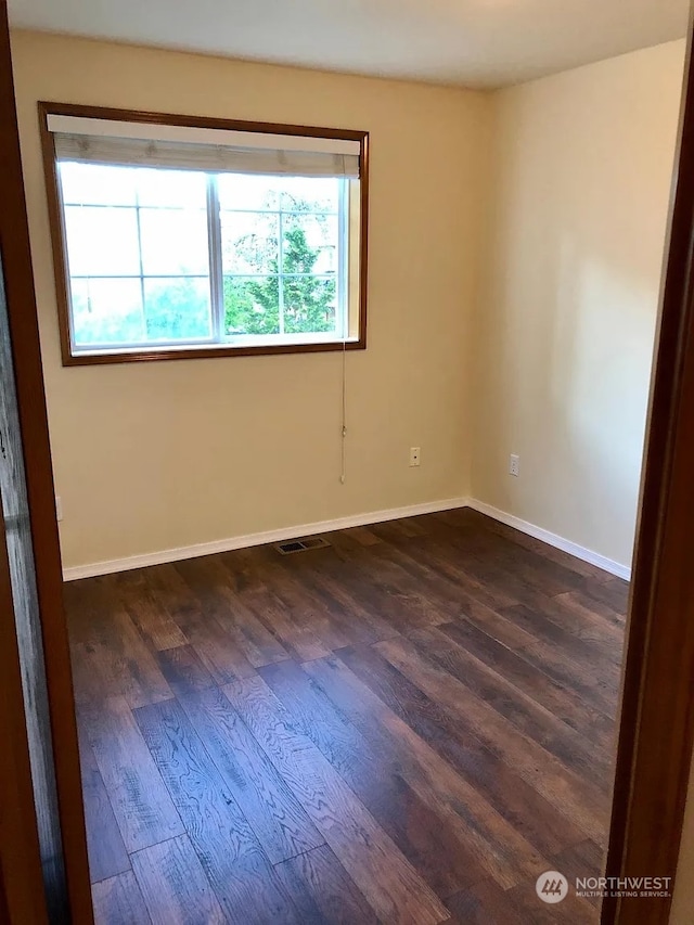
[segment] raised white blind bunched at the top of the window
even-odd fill
[[[59,160],[217,174],[359,178],[360,144],[338,138],[49,115]]]

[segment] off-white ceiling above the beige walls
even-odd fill
[[[499,87],[680,38],[689,0],[10,0],[14,27]]]

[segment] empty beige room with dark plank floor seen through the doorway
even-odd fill
[[[687,3],[9,9],[95,922],[597,923]]]

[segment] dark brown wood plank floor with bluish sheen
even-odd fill
[[[470,510],[66,584],[99,923],[596,923],[627,584]]]

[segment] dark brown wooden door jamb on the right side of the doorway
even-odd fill
[[[694,741],[694,68],[685,65],[627,634],[607,876],[677,872]],[[666,925],[611,898],[603,925]]]

